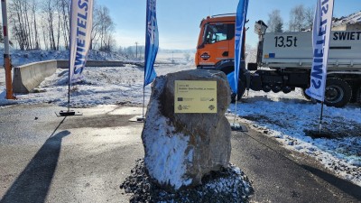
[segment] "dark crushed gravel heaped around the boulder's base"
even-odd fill
[[[120,186],[125,193],[133,193],[130,202],[248,202],[253,194],[245,173],[229,164],[221,171],[213,171],[193,189],[169,192],[158,187],[148,176],[143,159],[137,160],[131,175]]]

